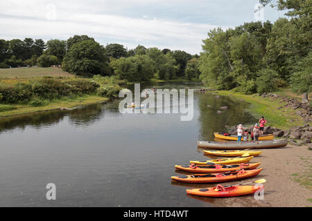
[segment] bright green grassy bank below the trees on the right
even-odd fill
[[[285,93],[285,92],[288,93]],[[280,95],[285,95],[288,97],[292,96],[291,92],[278,91]],[[268,121],[268,126],[276,126],[281,129],[288,129],[291,126],[302,126],[304,125],[304,120],[302,117],[296,115],[295,110],[289,107],[283,107],[286,102],[281,102],[279,99],[274,99],[271,97],[260,97],[257,94],[254,95],[242,95],[241,93],[234,92],[232,90],[218,90],[216,91],[219,95],[226,95],[233,97],[234,99],[244,99],[245,102],[250,103],[250,106],[246,111],[250,112],[254,117],[260,119],[261,116],[266,117]],[[300,99],[300,97],[296,97]]]

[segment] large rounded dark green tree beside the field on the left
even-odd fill
[[[110,75],[108,61],[105,48],[89,39],[71,46],[62,68],[76,75]]]

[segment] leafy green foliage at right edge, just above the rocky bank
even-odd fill
[[[298,63],[297,71],[291,75],[291,88],[297,94],[312,91],[312,52]]]

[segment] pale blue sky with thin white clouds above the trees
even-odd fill
[[[258,0],[1,0],[0,39],[94,37],[103,46],[202,51],[213,28],[276,21],[284,12]]]

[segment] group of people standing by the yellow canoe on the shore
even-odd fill
[[[264,117],[261,117],[259,119],[259,122],[254,125],[254,128],[252,129],[252,132],[248,132],[247,130],[243,129],[243,125],[239,124],[239,127],[237,128],[237,142],[241,142],[242,138],[243,141],[253,141],[258,142],[259,136],[263,135],[264,126],[266,124],[266,119]]]

